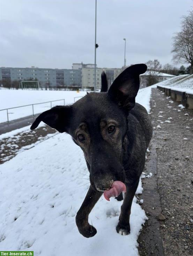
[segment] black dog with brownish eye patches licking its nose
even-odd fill
[[[116,229],[121,235],[130,232],[132,200],[152,136],[146,109],[135,104],[139,74],[146,70],[145,64],[130,66],[107,93],[88,93],[72,106],[53,107],[40,114],[31,126],[33,130],[43,121],[60,133],[66,132],[84,152],[90,188],[77,212],[76,225],[85,237],[97,232],[88,223],[88,216],[103,192],[107,200],[111,196],[121,200],[120,192],[126,192]]]

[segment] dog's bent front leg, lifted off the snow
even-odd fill
[[[76,214],[76,225],[79,229],[79,232],[85,237],[92,237],[97,233],[96,228],[88,223],[88,215],[101,195],[101,192],[95,191],[90,186],[87,195]]]

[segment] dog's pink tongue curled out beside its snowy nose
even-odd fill
[[[107,201],[110,201],[110,197],[118,197],[121,192],[126,192],[126,186],[123,182],[116,180],[109,190],[104,191],[104,198]]]

